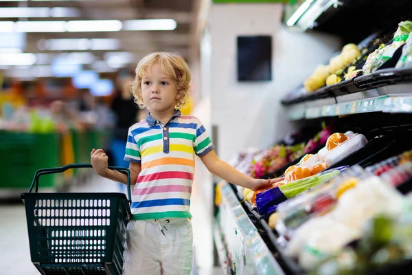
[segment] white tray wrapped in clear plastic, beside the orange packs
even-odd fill
[[[350,139],[346,140],[342,144],[339,144],[339,146],[336,146],[331,151],[329,151],[324,157],[325,162],[329,166],[332,166],[336,162],[341,161],[341,159],[344,159],[348,155],[358,151],[366,144],[367,139],[365,135],[355,134],[350,137]]]

